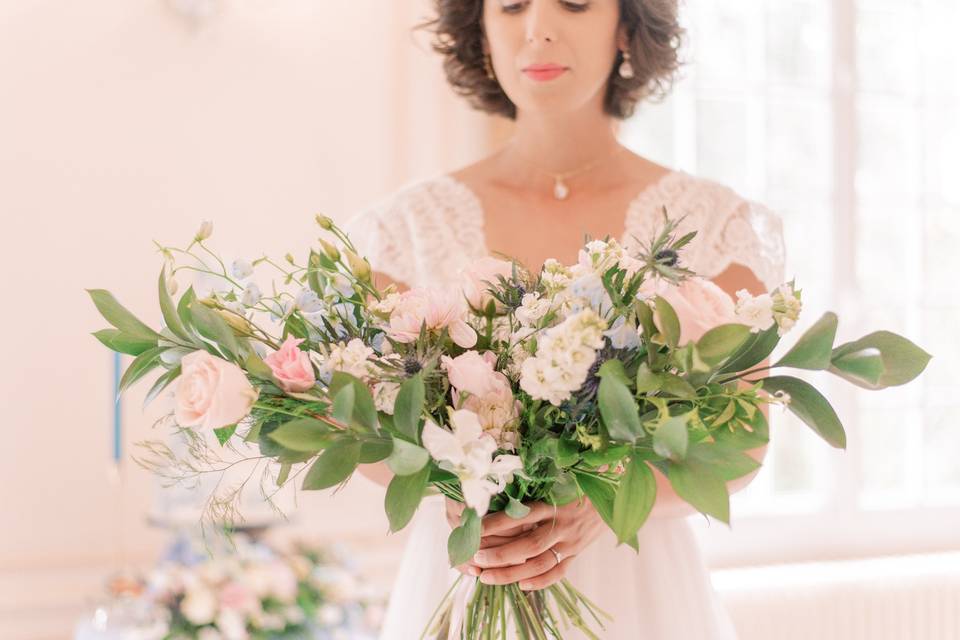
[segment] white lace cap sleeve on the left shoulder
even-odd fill
[[[413,287],[416,262],[408,217],[404,198],[394,196],[351,216],[342,228],[374,271]]]

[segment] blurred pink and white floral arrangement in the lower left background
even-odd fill
[[[235,534],[211,556],[181,539],[146,576],[114,580],[114,599],[147,605],[163,640],[372,640],[382,596],[358,580],[346,554],[297,543],[278,552]],[[155,637],[155,636],[152,636]]]

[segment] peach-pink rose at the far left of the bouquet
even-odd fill
[[[182,427],[219,429],[250,413],[257,399],[243,370],[206,351],[188,353],[180,361],[174,416]]]

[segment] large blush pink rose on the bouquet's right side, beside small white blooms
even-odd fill
[[[676,310],[680,319],[680,344],[699,340],[718,325],[739,322],[733,298],[706,278],[688,278],[678,286],[656,278],[644,282],[640,292],[659,295]]]

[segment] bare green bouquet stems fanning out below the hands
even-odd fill
[[[600,640],[586,614],[601,630],[601,618],[612,619],[567,579],[528,592],[517,584],[489,585],[461,575],[434,610],[420,640],[512,640],[509,621],[517,640],[562,640],[561,623],[563,629],[574,627],[591,640]]]

